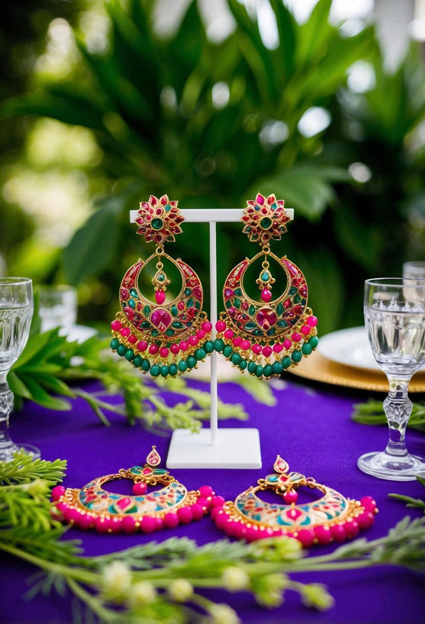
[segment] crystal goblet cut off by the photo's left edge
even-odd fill
[[[13,392],[7,384],[7,373],[27,343],[32,312],[32,281],[23,277],[0,278],[0,461],[9,462],[13,454],[24,449],[31,456],[40,451],[31,444],[14,444],[9,432],[9,414]]]

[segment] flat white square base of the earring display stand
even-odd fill
[[[210,429],[192,433],[176,429],[170,442],[167,468],[261,468],[258,429],[219,429],[211,446]]]

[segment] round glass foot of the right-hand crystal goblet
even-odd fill
[[[414,481],[425,476],[425,462],[416,455],[391,455],[386,451],[366,453],[359,457],[357,466],[378,479]]]

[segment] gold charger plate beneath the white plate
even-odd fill
[[[298,366],[290,369],[290,373],[303,379],[322,381],[334,386],[358,388],[376,392],[388,392],[388,380],[384,373],[370,373],[353,366],[345,366],[324,358],[320,353],[314,353],[303,358]],[[409,384],[409,392],[425,392],[424,371],[416,373]]]

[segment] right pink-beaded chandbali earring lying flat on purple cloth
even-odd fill
[[[360,529],[373,524],[376,502],[371,496],[360,500],[346,499],[326,485],[299,472],[288,472],[288,464],[278,455],[274,474],[259,479],[258,485],[239,494],[234,502],[227,501],[211,512],[219,529],[237,539],[249,542],[261,538],[289,535],[306,548],[312,544],[342,542],[356,537]],[[298,487],[318,489],[323,497],[297,504]],[[257,492],[272,490],[282,495],[285,504],[265,502]]]

